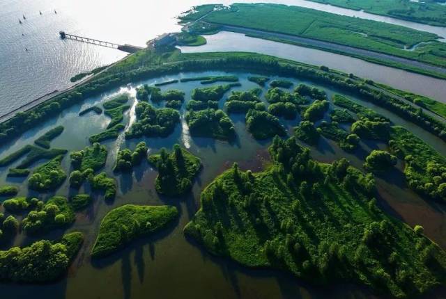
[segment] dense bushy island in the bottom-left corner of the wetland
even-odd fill
[[[83,241],[82,233],[71,232],[58,242],[40,240],[24,248],[0,251],[0,280],[52,282],[66,272]]]

